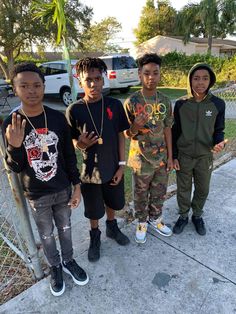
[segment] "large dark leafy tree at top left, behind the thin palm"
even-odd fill
[[[65,12],[73,22],[67,24],[68,42],[77,45],[80,34],[90,23],[92,9],[79,0],[68,0]],[[1,0],[0,25],[0,67],[7,79],[22,50],[29,51],[34,44],[45,47],[55,43],[56,25],[52,24],[47,29],[43,21],[34,19],[30,0]]]

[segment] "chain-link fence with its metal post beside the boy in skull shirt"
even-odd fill
[[[23,211],[27,206],[24,199],[21,201],[18,177],[4,167],[3,153],[0,149],[0,304],[42,277],[28,212]]]

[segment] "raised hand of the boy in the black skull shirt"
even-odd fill
[[[11,146],[15,148],[21,147],[25,136],[25,125],[26,120],[22,120],[21,116],[14,112],[12,114],[12,122],[6,129],[6,139]]]

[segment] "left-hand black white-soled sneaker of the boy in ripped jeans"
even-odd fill
[[[50,274],[51,274],[51,279],[50,279],[51,293],[55,297],[59,297],[65,291],[65,283],[64,283],[63,277],[62,277],[61,264],[58,266],[50,267]]]

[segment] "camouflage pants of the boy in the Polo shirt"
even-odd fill
[[[166,166],[157,169],[145,167],[140,173],[133,174],[133,180],[136,218],[145,222],[148,216],[153,219],[160,217],[168,181]]]

